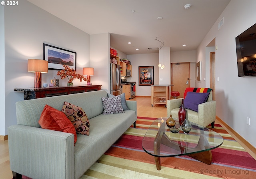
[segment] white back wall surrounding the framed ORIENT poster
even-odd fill
[[[151,96],[151,86],[139,86],[139,66],[154,66],[154,84],[159,84],[159,54],[127,55],[132,63],[132,77],[127,77],[128,82],[137,82],[136,95]]]

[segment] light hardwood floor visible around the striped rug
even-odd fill
[[[151,97],[142,97],[137,96],[133,99],[137,101],[137,115],[140,117],[166,117],[167,116],[167,108],[164,105],[154,105],[151,106]],[[220,123],[231,135],[236,139],[242,147],[256,159],[256,152],[255,148],[253,149],[251,146],[246,145],[243,143],[243,139],[237,137],[232,131],[230,131],[223,123],[216,119],[216,123]],[[9,161],[9,152],[8,152],[8,140],[2,141],[0,140],[0,179],[12,179],[12,171],[10,170],[10,161]]]

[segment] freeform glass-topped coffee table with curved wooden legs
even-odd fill
[[[183,133],[182,129],[178,133],[172,133],[166,125],[168,117],[156,119],[148,128],[143,140],[142,148],[146,153],[154,156],[156,169],[161,169],[160,157],[175,157],[188,155],[194,159],[210,165],[212,163],[212,149],[222,145],[223,138],[216,132],[191,123],[190,133]],[[176,127],[179,128],[177,118]]]

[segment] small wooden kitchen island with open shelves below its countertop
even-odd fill
[[[167,107],[167,100],[170,99],[170,86],[173,85],[152,85],[151,86],[151,106],[154,104],[164,104]]]

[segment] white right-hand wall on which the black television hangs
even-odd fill
[[[206,46],[215,38],[216,115],[256,147],[256,77],[238,77],[235,37],[256,23],[255,0],[231,0],[196,51],[196,59],[206,64]],[[218,23],[224,24],[218,30]],[[202,66],[205,68],[205,66]],[[202,70],[202,78],[206,70]],[[251,125],[247,125],[247,117]]]

